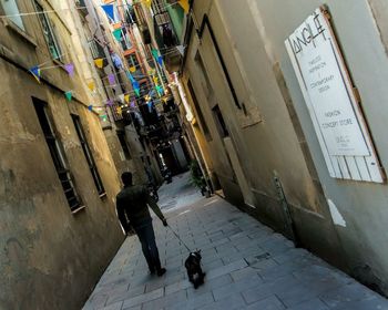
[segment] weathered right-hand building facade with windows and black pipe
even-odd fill
[[[316,131],[306,103],[314,97],[306,96],[287,53],[285,41],[324,4],[323,19],[338,42],[344,81],[358,90],[359,103],[353,108],[376,155],[369,170],[360,156],[338,153],[333,162],[337,175],[330,172],[325,137]],[[386,18],[387,4],[378,0],[195,0],[181,74],[213,186],[384,293]],[[318,40],[306,33],[298,44]]]

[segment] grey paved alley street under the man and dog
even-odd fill
[[[126,238],[84,310],[388,309],[388,301],[222,198],[202,198],[187,175],[160,189],[170,226],[202,249],[205,285],[187,281],[185,247],[154,219],[162,278],[150,276],[135,236]]]

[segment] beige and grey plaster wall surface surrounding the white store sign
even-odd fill
[[[388,62],[381,40],[386,41],[387,32],[384,19],[375,20],[376,16],[384,14],[386,6],[378,0],[370,2],[375,16],[365,0],[325,1],[353,81],[360,92],[381,164],[386,166],[388,107],[384,102],[388,96],[385,85]],[[256,197],[257,210],[252,213],[278,228],[284,223],[273,182],[276,170],[303,246],[387,293],[388,251],[381,246],[387,242],[387,186],[340,180],[328,175],[284,45],[285,39],[325,3],[318,0],[201,3],[194,2],[196,24],[200,25],[207,13],[237,97],[257,106],[262,121],[246,127],[242,125],[207,30],[201,42],[193,33],[184,74],[192,80],[204,118],[214,135],[217,132],[210,108],[214,99],[204,95],[206,81],[195,62],[200,51],[211,76],[215,102],[227,117],[242,170]],[[229,167],[223,145],[215,138],[208,145],[215,169],[224,174]]]

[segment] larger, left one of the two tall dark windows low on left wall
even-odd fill
[[[65,155],[62,151],[62,144],[57,138],[54,133],[53,123],[48,114],[47,103],[38,99],[32,99],[32,101],[64,195],[69,203],[70,209],[73,211],[81,206],[81,200],[76,194],[74,182],[68,168]]]

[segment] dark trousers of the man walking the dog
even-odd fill
[[[161,269],[161,260],[159,258],[159,251],[155,241],[154,228],[152,227],[152,221],[143,224],[140,227],[135,227],[134,230],[139,237],[140,242],[142,244],[142,250],[145,257],[145,260],[149,265],[150,271],[154,272],[155,270]]]

